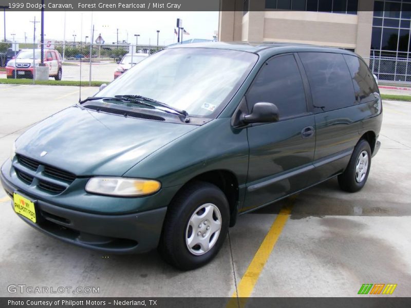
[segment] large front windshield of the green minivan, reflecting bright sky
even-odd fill
[[[96,94],[141,95],[213,117],[237,91],[255,65],[254,53],[214,48],[172,48],[157,52]]]

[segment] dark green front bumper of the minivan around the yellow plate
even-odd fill
[[[36,223],[17,215],[30,226],[54,238],[113,254],[143,253],[158,245],[166,207],[123,215],[85,213],[30,196],[9,182],[3,172],[0,172],[0,180],[11,198],[16,191],[35,202]]]

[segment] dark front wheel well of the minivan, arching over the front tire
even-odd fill
[[[238,181],[236,176],[228,170],[213,170],[196,176],[185,185],[193,181],[209,182],[221,189],[230,205],[230,227],[234,226],[237,219],[238,203]]]

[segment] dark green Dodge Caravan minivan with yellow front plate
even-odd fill
[[[338,176],[360,190],[382,104],[356,54],[192,44],[143,60],[26,131],[1,168],[13,209],[105,253],[209,262],[236,217]]]

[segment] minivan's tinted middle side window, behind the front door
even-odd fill
[[[342,54],[301,52],[300,57],[310,84],[315,113],[354,105],[351,74]]]

